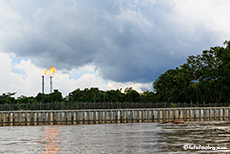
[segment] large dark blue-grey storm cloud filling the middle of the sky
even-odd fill
[[[25,5],[32,6],[29,10]],[[177,18],[171,1],[39,1],[19,6],[1,49],[40,67],[93,63],[105,79],[152,82],[208,49],[213,33]],[[29,7],[27,6],[27,7]]]

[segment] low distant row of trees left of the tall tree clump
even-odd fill
[[[26,97],[20,96],[17,99],[13,96],[16,93],[3,93],[0,95],[0,104],[15,104],[15,103],[55,103],[55,102],[153,102],[155,93],[153,91],[144,91],[138,93],[132,87],[127,87],[124,92],[122,89],[103,91],[98,88],[92,87],[80,90],[79,88],[70,92],[67,96],[63,97],[62,93],[57,89],[50,94],[38,93],[37,96]],[[42,98],[43,97],[43,98]],[[42,100],[43,99],[43,100]]]

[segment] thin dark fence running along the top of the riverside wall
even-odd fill
[[[229,103],[121,103],[121,102],[56,102],[0,104],[0,111],[13,110],[75,110],[75,109],[127,109],[127,108],[179,108],[179,107],[227,107]]]

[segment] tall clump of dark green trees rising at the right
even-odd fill
[[[230,42],[211,47],[201,55],[161,74],[153,83],[158,101],[229,103]]]

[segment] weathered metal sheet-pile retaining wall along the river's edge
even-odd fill
[[[230,120],[230,107],[0,112],[1,126]]]

